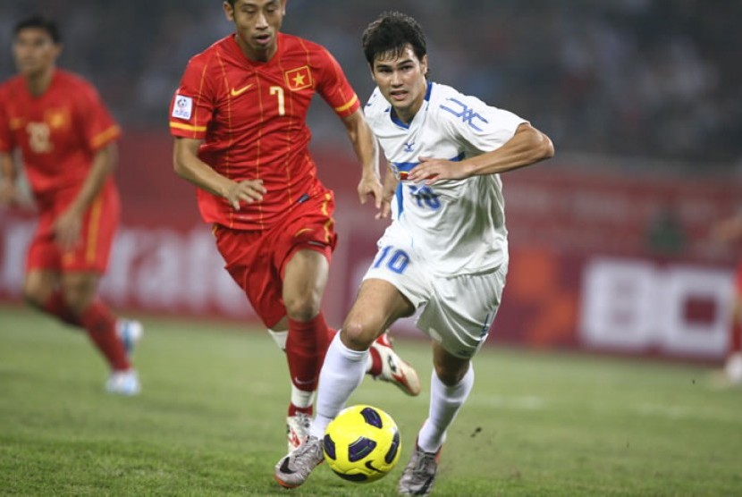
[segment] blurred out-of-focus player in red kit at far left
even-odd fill
[[[116,319],[97,299],[119,219],[111,173],[121,131],[89,82],[55,67],[61,52],[54,22],[32,17],[15,27],[19,74],[0,86],[0,201],[19,200],[19,149],[39,212],[23,295],[84,329],[111,367],[106,389],[133,395],[139,378],[129,352],[141,324]]]

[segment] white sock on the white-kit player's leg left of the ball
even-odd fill
[[[366,374],[368,350],[350,350],[342,344],[340,332],[335,334],[325,355],[325,364],[319,374],[316,395],[316,417],[309,432],[322,438],[330,424],[350,398]]]

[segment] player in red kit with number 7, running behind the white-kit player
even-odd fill
[[[363,173],[361,203],[381,202],[378,151],[358,97],[325,47],[279,32],[286,0],[229,0],[236,31],[190,59],[173,96],[174,169],[198,186],[226,270],[286,351],[289,448],[308,433],[317,377],[334,331],[320,302],[333,248],[334,196],[308,154],[318,92],[345,124]],[[367,372],[420,392],[415,370],[382,335]]]

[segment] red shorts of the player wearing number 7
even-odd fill
[[[299,204],[268,230],[231,230],[215,224],[216,248],[224,268],[267,327],[286,316],[283,272],[291,257],[300,249],[310,249],[330,261],[337,242],[334,209],[333,193],[328,191]]]

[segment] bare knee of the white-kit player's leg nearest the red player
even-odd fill
[[[366,349],[394,321],[414,312],[409,299],[392,283],[366,279],[342,324],[341,338],[352,349]]]

